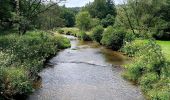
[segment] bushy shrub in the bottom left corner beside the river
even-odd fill
[[[32,83],[28,77],[27,71],[22,68],[9,67],[1,69],[1,95],[8,98],[17,94],[29,94],[33,91]]]

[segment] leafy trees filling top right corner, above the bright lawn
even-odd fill
[[[170,40],[169,0],[127,0],[117,7],[118,26],[142,37]]]

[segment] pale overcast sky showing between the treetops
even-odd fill
[[[93,2],[94,0],[67,0],[65,5],[66,7],[82,7],[85,6],[89,2]],[[116,4],[121,3],[121,0],[114,0]]]

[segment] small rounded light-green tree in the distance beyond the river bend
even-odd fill
[[[91,16],[87,11],[78,13],[76,16],[76,25],[81,30],[89,30],[91,28]]]

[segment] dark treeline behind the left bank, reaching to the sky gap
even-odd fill
[[[62,0],[1,0],[0,30],[16,29],[21,34],[31,29],[73,27],[77,9],[58,6]]]

